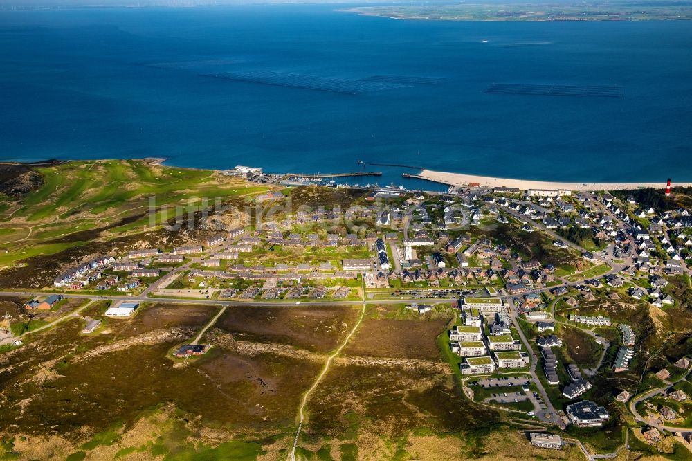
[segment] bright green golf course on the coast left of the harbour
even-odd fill
[[[64,237],[122,219],[131,218],[110,228],[109,235],[151,230],[152,213],[160,226],[174,217],[174,206],[187,214],[212,206],[217,198],[242,200],[269,190],[211,170],[142,160],[74,161],[36,170],[44,178],[41,187],[16,201],[0,197],[0,222],[8,223],[0,229],[0,266],[79,246],[82,242]]]

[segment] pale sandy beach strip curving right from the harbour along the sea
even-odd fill
[[[527,189],[568,189],[568,190],[621,190],[621,189],[639,189],[639,188],[656,188],[664,189],[666,187],[666,179],[663,178],[658,183],[561,183],[552,181],[531,181],[529,179],[509,179],[509,178],[492,178],[486,176],[475,176],[473,174],[462,173],[447,173],[432,170],[422,170],[416,177],[428,179],[438,183],[449,184],[450,186],[466,186],[469,183],[477,183],[481,186],[491,188],[507,187]],[[675,183],[673,182],[673,190],[678,187],[692,187],[692,183]]]

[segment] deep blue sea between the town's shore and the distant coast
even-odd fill
[[[334,8],[2,11],[0,159],[163,156],[273,172],[361,159],[692,181],[692,22],[401,21]],[[372,90],[375,76],[386,77],[376,91],[305,88],[369,79]],[[278,80],[293,86],[268,84]],[[623,97],[484,93],[493,83],[618,85]],[[404,182],[406,170],[368,168]]]

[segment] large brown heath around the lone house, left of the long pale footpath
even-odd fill
[[[105,307],[92,306],[85,313],[99,317]],[[246,458],[255,459],[262,444],[273,444],[272,437],[292,430],[295,408],[320,360],[262,345],[236,347],[233,340],[212,334],[214,347],[208,354],[176,362],[167,356],[171,348],[190,341],[216,309],[183,304],[141,309],[130,319],[108,319],[101,332],[89,335],[80,334],[84,320],[74,318],[0,355],[5,409],[0,432],[17,437],[12,451],[36,449],[22,444],[19,435],[36,442],[53,440],[39,458],[53,453],[64,459],[73,451],[104,449],[102,445],[127,448],[121,445],[135,436],[131,431],[162,405],[172,408],[162,427],[181,427],[162,440],[138,433],[133,453],[195,453],[202,448],[200,441],[207,444],[205,450],[224,441],[230,444],[219,446],[224,451],[235,446],[237,437],[250,437],[260,440]],[[190,430],[193,420],[197,428]],[[211,428],[219,433],[208,438]],[[187,435],[194,440],[190,446]],[[238,441],[235,448],[244,443]]]

